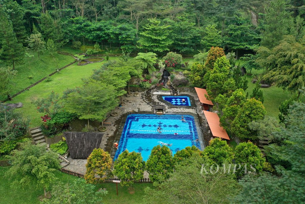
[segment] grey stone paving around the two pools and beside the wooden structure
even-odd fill
[[[134,94],[130,97],[124,97],[124,106],[121,107],[117,107],[115,109],[115,113],[117,113],[116,116],[110,116],[106,122],[111,123],[110,125],[105,125],[105,127],[107,128],[107,130],[104,132],[104,136],[102,138],[102,142],[100,144],[100,148],[102,149],[107,149],[108,151],[110,150],[110,148],[113,145],[114,140],[116,139],[116,135],[119,134],[118,131],[120,129],[120,125],[124,124],[124,121],[122,120],[122,116],[127,113],[136,113],[136,112],[152,112],[151,110],[151,106],[149,104],[147,104],[146,102],[143,101],[143,99],[141,98],[141,94],[143,94],[144,92],[140,93],[140,94]],[[191,95],[195,101],[193,101],[192,104],[195,104],[196,106],[192,106],[191,108],[184,108],[184,107],[178,107],[175,108],[173,106],[169,106],[167,103],[164,103],[163,101],[159,100],[157,98],[157,95],[152,95],[152,100],[154,100],[155,102],[158,102],[159,104],[165,105],[166,106],[166,112],[167,113],[192,113],[192,114],[197,114],[199,116],[199,120],[201,121],[202,124],[206,123],[206,119],[205,116],[202,112],[202,107],[200,106],[200,103],[198,101],[198,97],[196,95],[196,93],[192,93],[192,92],[181,92],[180,95]],[[200,126],[199,121],[197,122],[197,126]],[[204,142],[204,138],[206,138],[206,130],[205,127],[199,127],[200,130],[197,130],[198,133],[200,134],[200,132],[203,133],[202,135],[202,141],[203,141],[203,148],[206,146],[205,142]],[[197,128],[198,129],[198,128]],[[201,134],[200,134],[201,135]],[[203,138],[204,137],[204,138]],[[202,148],[202,149],[203,149]],[[109,151],[110,153],[114,151],[114,148],[111,148],[111,150]],[[65,169],[68,169],[70,171],[74,171],[74,172],[78,172],[81,174],[85,174],[86,172],[86,163],[87,163],[87,159],[72,159],[72,158],[68,158],[68,160],[70,161],[70,164],[67,165],[65,167]],[[144,173],[144,178],[148,178],[148,173],[145,171]]]

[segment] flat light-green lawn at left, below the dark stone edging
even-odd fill
[[[109,57],[110,59],[116,59],[117,57]],[[101,67],[102,63],[96,62],[84,66],[78,66],[76,63],[71,65],[60,72],[51,76],[52,81],[47,82],[46,80],[30,88],[29,91],[25,91],[20,95],[13,98],[10,103],[22,102],[23,108],[16,109],[23,113],[24,116],[30,119],[30,127],[36,127],[40,125],[40,117],[43,113],[38,113],[35,106],[31,104],[31,98],[46,98],[52,91],[63,94],[67,88],[74,88],[82,84],[81,79],[91,76],[93,69]]]

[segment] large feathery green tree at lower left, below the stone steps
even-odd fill
[[[56,180],[55,172],[60,168],[58,155],[45,151],[44,145],[32,145],[31,141],[20,144],[20,149],[13,150],[8,156],[11,168],[5,176],[12,180],[13,187],[26,188],[35,184],[46,190]]]

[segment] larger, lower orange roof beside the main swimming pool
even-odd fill
[[[223,139],[230,140],[228,133],[224,130],[223,127],[220,126],[219,117],[217,113],[205,110],[203,111],[203,113],[206,117],[207,124],[210,127],[210,132],[212,133],[213,137],[220,137]]]

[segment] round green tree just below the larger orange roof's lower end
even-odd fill
[[[222,165],[224,163],[231,163],[233,151],[226,141],[214,138],[210,140],[209,146],[203,150],[203,156],[218,165]]]

